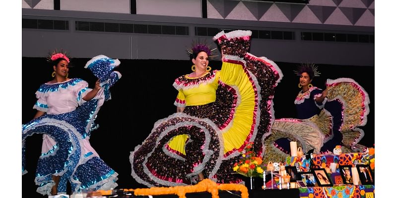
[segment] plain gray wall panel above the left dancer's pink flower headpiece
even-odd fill
[[[91,58],[104,54],[131,58],[131,36],[111,34],[22,31],[22,56],[43,57],[54,49],[64,49],[71,57]]]

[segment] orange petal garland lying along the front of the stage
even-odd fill
[[[216,184],[210,179],[204,179],[193,186],[175,186],[175,187],[151,187],[148,189],[125,189],[125,192],[133,191],[135,196],[149,195],[178,195],[179,198],[186,198],[187,193],[208,192],[212,198],[219,198],[218,190],[222,191],[240,191],[242,198],[248,198],[248,189],[241,184]]]

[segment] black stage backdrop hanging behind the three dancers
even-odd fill
[[[269,57],[271,58],[271,57]],[[72,59],[69,78],[82,78],[90,88],[95,76],[84,68],[90,58]],[[90,143],[101,158],[119,173],[118,188],[142,188],[131,176],[130,152],[140,145],[158,119],[176,112],[173,105],[177,91],[172,86],[175,78],[190,73],[190,60],[131,60],[121,59],[116,68],[123,77],[111,88],[112,99],[101,107],[96,123],[99,128],[92,132]],[[274,95],[276,118],[296,117],[294,99],[300,89],[298,76],[293,73],[297,63],[276,62],[284,77]],[[211,61],[212,69],[220,69],[220,61]],[[374,144],[374,71],[373,66],[318,65],[321,76],[312,84],[325,88],[326,79],[352,78],[369,94],[371,103],[366,126],[360,127],[365,136],[360,144]],[[30,121],[36,110],[35,92],[39,86],[52,79],[52,66],[45,58],[22,57],[22,122]],[[21,124],[23,124],[21,123]],[[34,174],[40,156],[42,136],[35,135],[26,141],[26,164],[28,173],[22,176],[23,197],[40,197],[36,193]],[[16,165],[16,164],[15,164]],[[19,164],[18,164],[19,165]]]

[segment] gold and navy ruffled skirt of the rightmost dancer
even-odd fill
[[[363,152],[357,144],[364,136],[358,126],[364,126],[369,113],[369,98],[353,79],[327,80],[328,101],[324,109],[309,119],[277,119],[271,135],[265,140],[264,161],[284,161],[290,155],[290,141],[296,141],[303,152],[332,152],[340,145],[343,152]]]

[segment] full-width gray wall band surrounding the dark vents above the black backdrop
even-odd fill
[[[212,42],[213,35],[195,36],[195,27],[199,26],[294,32],[295,40],[252,40],[251,53],[266,56],[274,61],[362,66],[373,66],[375,62],[374,43],[317,42],[300,39],[301,32],[374,35],[373,27],[38,9],[22,9],[22,13],[23,19],[66,20],[69,24],[68,30],[22,28],[22,56],[24,57],[43,57],[49,50],[63,48],[70,51],[74,57],[84,58],[105,54],[124,59],[186,60],[185,50],[190,47],[193,40],[200,38]],[[176,25],[188,27],[189,35],[76,31],[75,21]]]

